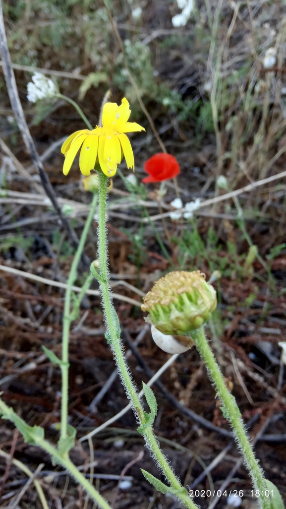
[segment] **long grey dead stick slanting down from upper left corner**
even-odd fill
[[[9,94],[9,98],[10,98],[12,109],[14,111],[15,118],[18,123],[18,127],[20,129],[22,138],[24,140],[24,144],[26,146],[27,151],[31,155],[34,165],[38,169],[42,185],[43,185],[54,209],[56,210],[56,212],[58,212],[58,214],[61,218],[63,227],[67,231],[69,239],[72,242],[72,245],[74,247],[77,247],[78,246],[78,238],[77,238],[75,232],[73,231],[73,229],[71,228],[69,221],[62,214],[62,210],[58,203],[58,199],[57,199],[56,194],[53,190],[53,187],[48,179],[48,176],[44,170],[44,166],[40,160],[39,154],[36,150],[34,140],[31,136],[30,130],[27,126],[27,123],[26,123],[26,120],[24,117],[24,112],[23,112],[23,108],[22,108],[22,105],[20,102],[17,84],[16,84],[16,80],[15,80],[15,76],[14,76],[14,72],[13,72],[13,68],[12,68],[12,63],[11,63],[11,58],[10,58],[10,53],[9,53],[9,49],[8,49],[8,44],[7,44],[3,10],[2,10],[2,2],[0,2],[0,52],[2,55],[3,71],[4,71],[5,80],[6,80],[6,84],[7,84],[7,91]],[[87,257],[84,257],[84,259],[85,259],[85,263],[90,263],[90,261],[87,259]]]

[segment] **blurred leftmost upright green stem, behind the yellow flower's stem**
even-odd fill
[[[74,320],[74,314],[70,312],[71,305],[71,296],[72,296],[72,286],[76,280],[77,276],[77,266],[81,257],[81,253],[84,248],[85,241],[87,240],[87,235],[89,233],[90,225],[92,222],[92,218],[95,213],[95,208],[97,204],[98,194],[94,193],[93,200],[90,206],[90,212],[85,221],[84,228],[82,230],[82,234],[80,237],[80,241],[74,255],[74,259],[71,265],[69,278],[67,281],[67,290],[65,297],[65,307],[64,307],[64,319],[63,319],[63,341],[62,341],[62,362],[61,371],[62,371],[62,416],[61,416],[61,438],[67,437],[67,425],[68,425],[68,382],[69,382],[69,332],[70,332],[70,324],[72,320]],[[90,280],[90,278],[88,278]],[[82,292],[80,293],[80,295]]]

